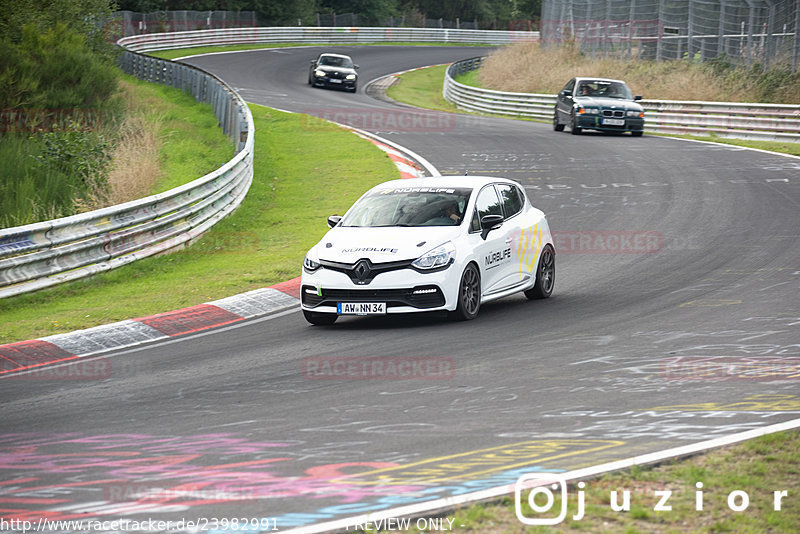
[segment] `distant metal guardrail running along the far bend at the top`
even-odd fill
[[[509,44],[539,38],[539,32],[505,30],[456,30],[451,28],[329,28],[288,26],[270,28],[227,28],[174,33],[152,33],[123,37],[119,43],[139,52],[208,45],[269,43],[464,43]]]

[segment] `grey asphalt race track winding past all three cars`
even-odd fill
[[[442,174],[520,181],[556,235],[554,296],[468,323],[298,309],[104,356],[105,380],[4,379],[0,516],[285,530],[800,417],[800,160],[419,112],[366,82],[485,49],[326,49],[360,65],[356,94],[306,84],[321,48],[187,62]],[[320,371],[342,361],[385,367]]]

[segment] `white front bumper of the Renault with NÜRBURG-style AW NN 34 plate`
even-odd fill
[[[337,313],[339,303],[350,302],[385,302],[387,314],[452,311],[456,308],[457,278],[452,265],[433,273],[410,268],[385,272],[366,285],[356,285],[346,274],[325,268],[313,273],[303,270],[300,303],[304,310],[318,313]]]

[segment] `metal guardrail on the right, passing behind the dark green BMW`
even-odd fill
[[[553,120],[556,95],[509,93],[472,87],[453,78],[480,67],[483,57],[448,67],[442,94],[459,109]],[[642,100],[645,131],[800,142],[800,106],[679,100]]]

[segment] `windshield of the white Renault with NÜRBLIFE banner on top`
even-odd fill
[[[470,188],[394,187],[359,199],[342,226],[457,226],[464,219]]]

